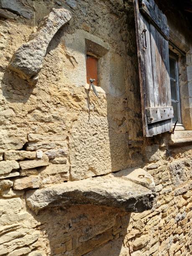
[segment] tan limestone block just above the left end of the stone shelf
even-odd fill
[[[13,189],[25,189],[25,188],[38,188],[40,183],[40,177],[38,176],[26,176],[15,179]]]

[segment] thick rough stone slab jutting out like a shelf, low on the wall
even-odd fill
[[[28,191],[26,202],[38,213],[46,207],[100,205],[126,212],[143,212],[153,207],[156,197],[152,176],[143,169],[126,169],[73,182]]]

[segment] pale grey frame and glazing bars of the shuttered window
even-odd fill
[[[174,79],[174,78],[171,77],[171,74],[169,74],[170,88],[171,88],[171,80],[172,80],[176,84],[176,93],[177,93],[177,100],[172,100],[172,98],[171,98],[171,102],[178,103],[178,108],[177,108],[178,122],[177,122],[177,126],[183,126],[182,117],[181,117],[181,99],[180,99],[180,88],[179,88],[179,67],[178,67],[179,56],[177,56],[177,54],[175,54],[171,49],[169,49],[169,59],[173,59],[175,61],[175,77],[176,77],[176,79]],[[174,125],[174,122],[172,122],[172,125]]]

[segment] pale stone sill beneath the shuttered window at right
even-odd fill
[[[192,131],[174,131],[168,143],[170,146],[192,143]]]

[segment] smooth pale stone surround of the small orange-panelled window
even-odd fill
[[[98,58],[99,86],[97,92],[110,94],[115,97],[125,95],[125,58],[120,56],[108,42],[103,41],[87,31],[78,29],[73,34],[65,34],[61,38],[67,55],[75,59],[75,67],[64,70],[71,84],[76,87],[84,87],[85,90],[92,90],[87,84],[86,75],[86,54]]]

